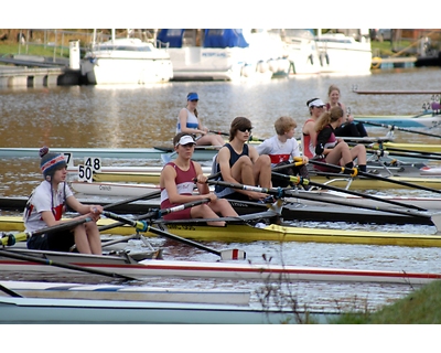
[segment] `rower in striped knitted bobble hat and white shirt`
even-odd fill
[[[50,153],[47,147],[40,149],[40,167],[44,181],[32,192],[23,221],[26,232],[35,232],[61,224],[66,206],[80,215],[68,221],[90,217],[93,221],[73,229],[32,236],[28,248],[54,252],[69,252],[76,245],[78,253],[101,255],[101,239],[96,222],[103,206],[84,205],[72,193],[66,183],[67,164],[61,153]]]

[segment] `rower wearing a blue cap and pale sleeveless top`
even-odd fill
[[[196,139],[197,146],[224,146],[224,139],[219,135],[208,133],[208,128],[204,127],[197,118],[198,100],[197,93],[191,92],[187,94],[186,107],[182,108],[178,116],[176,133],[201,135]]]

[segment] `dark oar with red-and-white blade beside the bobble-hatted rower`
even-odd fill
[[[106,217],[109,217],[109,218],[112,218],[115,221],[119,221],[119,222],[126,223],[126,224],[139,229],[140,232],[150,232],[150,233],[166,237],[169,239],[176,240],[176,242],[180,242],[180,243],[196,247],[198,249],[215,254],[215,255],[219,256],[220,259],[223,259],[223,260],[237,260],[237,259],[245,259],[246,258],[246,253],[243,252],[243,250],[239,250],[239,249],[215,250],[215,249],[213,249],[211,247],[207,247],[205,245],[202,245],[200,243],[196,243],[196,242],[193,242],[193,240],[190,240],[190,239],[186,239],[186,238],[182,238],[182,237],[180,237],[178,235],[174,235],[174,234],[171,234],[169,232],[161,231],[159,228],[152,227],[149,224],[147,224],[147,222],[144,222],[144,221],[129,220],[129,218],[122,217],[120,215],[117,215],[117,214],[108,212],[108,211],[104,211],[103,214]]]

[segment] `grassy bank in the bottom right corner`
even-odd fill
[[[433,281],[374,313],[348,313],[332,323],[440,324],[441,281]]]

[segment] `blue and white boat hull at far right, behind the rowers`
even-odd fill
[[[375,124],[394,125],[400,128],[433,128],[441,124],[440,115],[415,116],[354,116],[358,121],[370,121]]]

